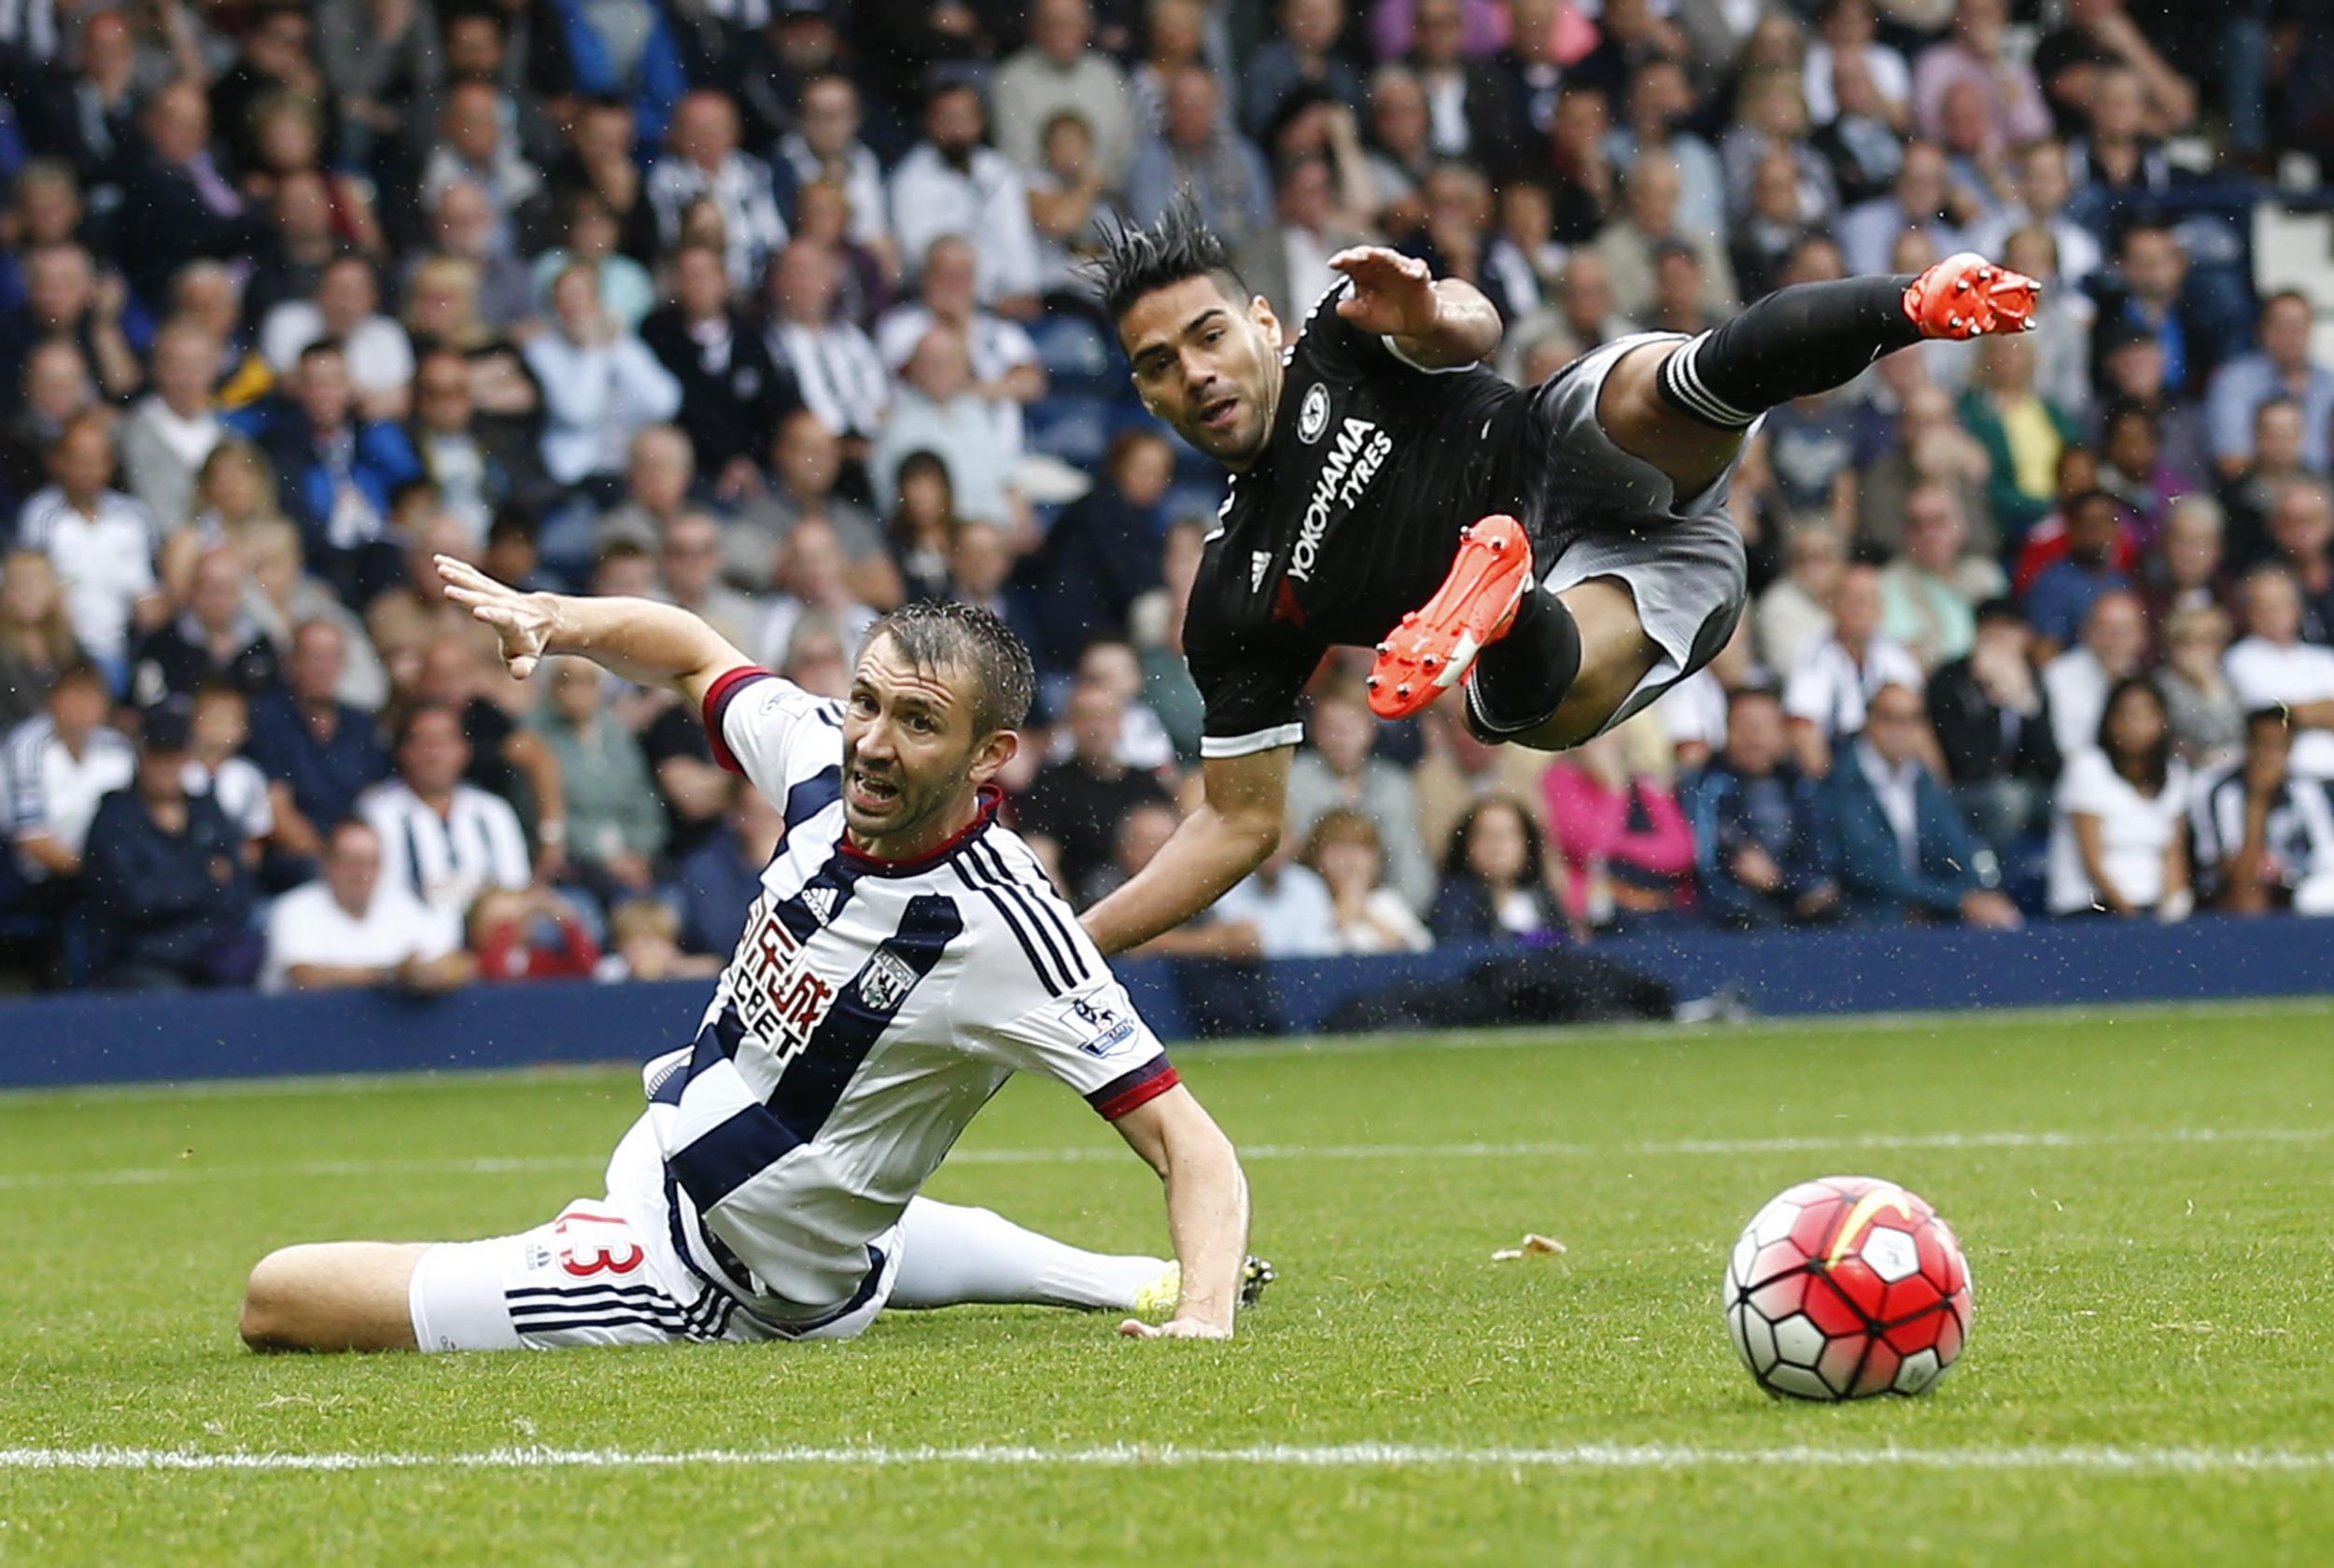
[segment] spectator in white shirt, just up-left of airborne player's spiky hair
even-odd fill
[[[1011,159],[980,145],[983,119],[973,86],[931,89],[924,140],[892,170],[892,233],[906,257],[927,257],[943,236],[980,236],[976,299],[1001,315],[1034,315],[1029,191]]]

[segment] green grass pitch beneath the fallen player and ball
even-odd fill
[[[1053,1458],[250,1475],[19,1454],[0,1456],[0,1563],[2250,1563],[2334,1542],[2334,1008],[1181,1062],[1251,1148],[1256,1248],[1281,1265],[1230,1346],[959,1309],[852,1344],[261,1360],[233,1339],[254,1258],[539,1223],[598,1195],[637,1076],[5,1097],[0,1449]],[[2182,1136],[2206,1132],[2234,1136]],[[962,1155],[936,1197],[1162,1246],[1155,1183],[1050,1085],[999,1097]],[[1725,1248],[1830,1171],[1902,1181],[1970,1248],[1977,1328],[1930,1398],[1776,1405],[1734,1363]],[[1526,1230],[1571,1251],[1489,1262]],[[1102,1444],[1676,1451],[1069,1463]],[[1879,1463],[1776,1454],[1797,1447]],[[2073,1463],[2098,1447],[2145,1463]],[[2164,1449],[2201,1454],[2178,1470]],[[2245,1458],[2262,1451],[2315,1458]]]

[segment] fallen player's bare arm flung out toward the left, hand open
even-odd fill
[[[553,653],[605,665],[640,686],[675,686],[691,705],[740,665],[754,660],[686,609],[654,600],[586,600],[565,593],[518,593],[478,567],[436,558],[446,597],[502,637],[502,660],[513,681],[534,674]]]

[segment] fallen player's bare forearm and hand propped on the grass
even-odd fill
[[[1176,1085],[1113,1122],[1167,1183],[1167,1234],[1183,1267],[1174,1318],[1118,1325],[1134,1339],[1230,1339],[1249,1258],[1249,1178],[1216,1120]]]

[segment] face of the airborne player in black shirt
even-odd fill
[[[1242,306],[1216,278],[1151,289],[1118,317],[1144,406],[1228,469],[1246,469],[1272,439],[1281,401],[1281,322]]]

